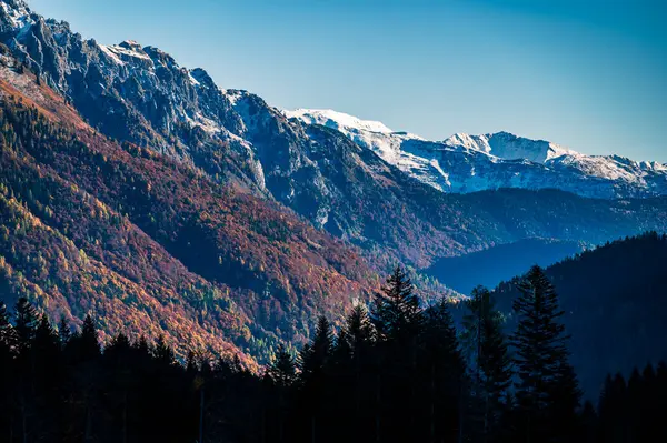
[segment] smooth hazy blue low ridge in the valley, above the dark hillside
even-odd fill
[[[525,239],[479,252],[438,259],[424,272],[452,290],[469,294],[477,285],[496,288],[531,265],[548,266],[584,251],[581,242]]]

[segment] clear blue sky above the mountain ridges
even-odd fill
[[[665,0],[29,0],[279,108],[667,162]]]

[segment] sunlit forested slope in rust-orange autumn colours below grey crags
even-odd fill
[[[107,334],[265,360],[316,313],[366,299],[356,252],[276,203],[89,128],[58,95],[0,67],[2,298],[53,318],[104,314]],[[20,90],[17,89],[20,87]],[[102,316],[102,315],[100,315]]]

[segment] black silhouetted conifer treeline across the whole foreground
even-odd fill
[[[370,309],[320,318],[299,355],[262,374],[119,334],[94,319],[53,326],[20,299],[0,303],[2,442],[646,442],[667,441],[667,366],[608,376],[581,404],[558,296],[539,268],[506,335],[491,294],[422,306],[397,269]],[[600,375],[603,377],[604,374]],[[649,440],[653,439],[653,440]]]

